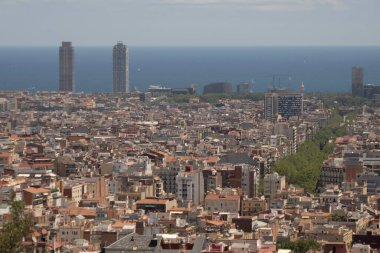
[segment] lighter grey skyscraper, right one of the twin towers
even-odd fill
[[[113,92],[129,91],[128,48],[122,42],[113,47]]]

